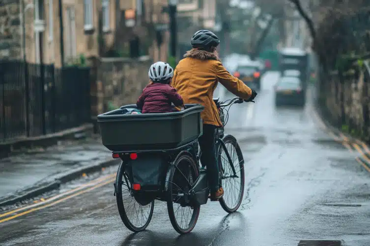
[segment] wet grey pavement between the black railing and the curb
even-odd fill
[[[111,153],[93,137],[0,159],[0,206],[56,189],[82,173],[115,165]]]

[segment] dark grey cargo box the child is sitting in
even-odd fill
[[[114,152],[165,150],[195,141],[203,133],[200,112],[204,106],[185,104],[180,112],[122,114],[126,105],[98,115],[103,145]]]

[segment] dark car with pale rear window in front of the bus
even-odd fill
[[[299,77],[281,77],[275,85],[275,105],[290,104],[303,107],[305,102],[305,93]]]

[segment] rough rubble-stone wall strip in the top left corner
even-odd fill
[[[21,58],[20,0],[0,1],[0,59]]]

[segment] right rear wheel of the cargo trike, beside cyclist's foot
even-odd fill
[[[200,205],[190,204],[189,191],[199,176],[191,154],[181,152],[171,164],[167,176],[167,209],[171,224],[178,233],[189,233],[194,229],[200,211]]]

